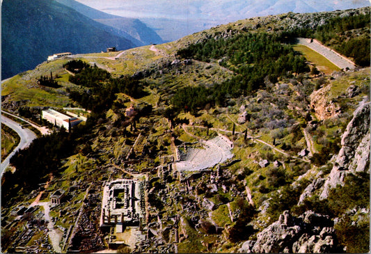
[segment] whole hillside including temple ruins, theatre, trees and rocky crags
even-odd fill
[[[51,132],[3,173],[1,250],[369,251],[370,63],[342,51],[355,66],[340,68],[297,43],[328,37],[340,53],[369,17],[254,17],[4,81],[2,108]],[[88,119],[60,129],[47,108]]]

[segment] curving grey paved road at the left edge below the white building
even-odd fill
[[[13,120],[10,120],[9,118],[7,118],[6,116],[3,116],[3,115],[1,115],[1,125],[6,125],[6,126],[10,127],[11,129],[13,129],[15,132],[17,132],[17,134],[21,138],[21,140],[19,141],[19,144],[17,145],[17,148],[15,148],[15,150],[13,150],[13,152],[11,152],[8,155],[8,157],[6,157],[6,159],[1,161],[0,176],[3,175],[3,171],[9,166],[10,158],[13,157],[13,155],[18,150],[22,150],[24,148],[27,148],[31,144],[33,139],[36,138],[36,135],[33,132],[31,132],[31,130],[29,130],[27,128],[22,129],[22,127],[19,125],[19,123],[15,122]]]

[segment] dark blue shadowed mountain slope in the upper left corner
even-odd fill
[[[56,1],[6,0],[1,16],[2,79],[33,69],[48,55],[58,52],[87,53],[106,47],[120,50],[136,47],[130,40],[110,33],[113,28]]]

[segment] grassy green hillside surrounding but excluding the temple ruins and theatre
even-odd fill
[[[43,106],[82,106],[90,116],[71,133],[39,138],[11,161],[17,170],[5,173],[2,188],[7,191],[1,192],[3,249],[32,244],[19,237],[26,216],[12,224],[10,211],[32,203],[39,184],[47,181],[45,200],[56,189],[68,191],[65,202],[51,212],[62,230],[76,229],[64,251],[106,248],[108,235],[93,223],[100,216],[102,184],[137,174],[147,181],[143,225],[153,235],[138,252],[175,252],[176,229],[180,252],[236,253],[285,210],[299,216],[309,209],[331,219],[341,216],[333,232],[340,245],[331,251],[367,249],[367,173],[347,177],[326,201],[314,195],[298,205],[310,183],[329,175],[352,113],[359,102],[370,100],[370,68],[331,70],[313,52],[300,49],[301,54],[282,42],[294,39],[287,37],[297,33],[292,24],[308,19],[319,24],[338,14],[246,19],[163,45],[81,54],[74,60],[86,64],[72,68],[74,75],[63,65],[77,63],[63,58],[6,81],[3,106],[15,113],[19,106],[35,113]],[[329,69],[313,74],[308,61]],[[50,72],[61,88],[37,84]],[[125,115],[130,105],[134,116]],[[219,134],[232,141],[232,159],[201,172],[175,170],[171,157],[176,147],[202,150],[200,141]],[[45,225],[38,211],[29,216]]]

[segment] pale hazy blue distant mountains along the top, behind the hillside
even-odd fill
[[[370,6],[368,0],[77,0],[113,15],[137,17],[166,41],[239,19]]]

